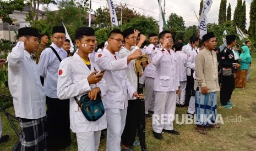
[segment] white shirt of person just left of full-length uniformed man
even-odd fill
[[[156,48],[154,44],[150,44],[148,45],[148,47],[144,47],[143,51],[145,54],[149,55],[149,58],[152,61],[155,55],[154,53],[157,49],[159,48]],[[152,63],[149,63],[149,65],[145,67],[144,77],[155,78],[155,72],[156,72],[156,67]]]

